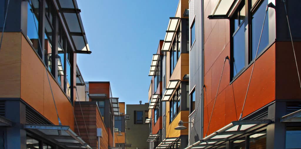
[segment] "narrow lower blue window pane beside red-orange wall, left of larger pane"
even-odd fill
[[[244,23],[233,36],[233,76],[245,66],[245,28]]]

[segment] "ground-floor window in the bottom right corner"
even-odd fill
[[[286,149],[301,148],[300,138],[301,138],[301,127],[287,127],[285,148]]]

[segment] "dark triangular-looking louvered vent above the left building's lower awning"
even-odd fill
[[[26,122],[28,124],[51,124],[42,115],[26,106]]]

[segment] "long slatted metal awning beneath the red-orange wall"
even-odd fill
[[[209,136],[206,136],[185,149],[214,147],[215,145],[220,145],[240,135],[250,134],[250,132],[254,132],[254,130],[258,130],[271,122],[270,119],[232,121],[225,127],[211,133]]]

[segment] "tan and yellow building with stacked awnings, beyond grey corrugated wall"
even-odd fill
[[[151,61],[149,76],[149,148],[185,148],[188,129],[175,130],[189,115],[188,0],[180,0],[169,18],[164,40]],[[188,127],[188,123],[184,126]]]

